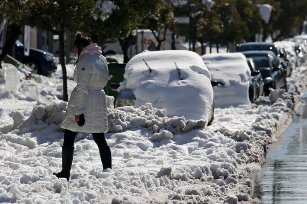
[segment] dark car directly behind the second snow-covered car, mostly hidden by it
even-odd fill
[[[258,69],[252,58],[246,58],[247,64],[251,69],[249,98],[252,103],[259,97],[264,95],[264,80],[262,74]]]

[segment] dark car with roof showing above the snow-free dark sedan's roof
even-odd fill
[[[278,47],[271,42],[246,42],[239,44],[237,46],[237,52],[251,51],[251,50],[268,50],[272,51],[280,61],[281,66],[284,70],[286,70],[287,77],[290,77],[292,68],[289,63],[284,61],[283,58],[280,57],[280,52]]]

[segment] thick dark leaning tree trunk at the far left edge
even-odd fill
[[[2,55],[0,55],[0,62],[4,60],[7,54],[10,52],[12,47],[15,45],[18,36],[21,34],[21,27],[15,23],[8,25],[8,31],[6,34],[5,45],[2,50]],[[1,67],[1,65],[0,65]]]

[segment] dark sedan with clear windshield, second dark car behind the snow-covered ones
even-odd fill
[[[252,58],[264,79],[265,95],[270,94],[269,88],[283,88],[287,91],[286,70],[272,51],[254,50],[242,52],[247,58]]]

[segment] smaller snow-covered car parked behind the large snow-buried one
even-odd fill
[[[250,104],[249,83],[251,71],[242,53],[216,53],[202,56],[211,73],[216,108]]]

